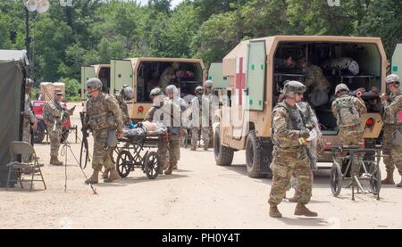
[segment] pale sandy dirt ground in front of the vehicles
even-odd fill
[[[78,108],[72,119],[79,124]],[[79,127],[80,129],[80,127]],[[80,136],[80,134],[79,134]],[[74,142],[74,136],[69,137]],[[92,137],[90,138],[92,149]],[[140,170],[113,184],[97,185],[94,195],[71,153],[65,168],[48,165],[50,147],[36,144],[47,190],[35,192],[0,189],[0,228],[401,228],[402,189],[383,185],[381,201],[359,194],[350,200],[343,189],[331,194],[328,172],[314,178],[311,210],[318,218],[293,215],[294,203],[284,202],[284,216],[268,216],[270,179],[247,177],[244,152],[236,152],[233,165],[218,167],[214,152],[181,150],[179,170],[172,176],[147,179]],[[71,144],[78,156],[80,144]],[[61,157],[64,161],[64,157]],[[384,174],[383,164],[381,164]],[[91,174],[90,164],[85,170]],[[395,179],[399,177],[395,174]],[[289,193],[289,195],[291,195]]]

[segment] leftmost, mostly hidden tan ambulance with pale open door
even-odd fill
[[[99,78],[102,81],[102,91],[110,93],[111,91],[111,65],[110,64],[95,64],[91,66],[81,67],[81,100],[87,98],[86,82],[89,78]]]

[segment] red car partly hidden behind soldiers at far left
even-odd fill
[[[43,120],[43,107],[45,105],[45,101],[32,101],[32,109],[35,113],[35,117],[38,120],[38,128],[34,133],[34,143],[40,144],[45,139],[47,134],[47,128],[45,121]],[[62,103],[62,105],[66,105],[66,103]],[[66,118],[63,121],[63,131],[62,131],[62,143],[67,139],[70,133],[71,121],[70,118]]]

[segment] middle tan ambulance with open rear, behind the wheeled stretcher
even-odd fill
[[[180,96],[194,95],[194,89],[205,81],[205,66],[200,59],[138,57],[111,61],[111,90],[119,92],[123,85],[132,86],[134,98],[128,104],[130,118],[144,119],[152,106],[149,93],[155,86],[175,85]],[[177,66],[177,67],[175,67]],[[175,67],[174,69],[172,69]],[[168,71],[169,70],[169,71]],[[170,72],[171,75],[166,76]],[[164,88],[162,88],[164,90]]]

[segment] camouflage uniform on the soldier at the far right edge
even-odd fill
[[[402,145],[392,144],[394,133],[397,129],[402,128],[402,120],[399,114],[402,114],[402,94],[400,90],[397,94],[389,96],[389,101],[382,103],[383,114],[382,120],[384,122],[384,136],[382,136],[382,151],[390,157],[384,157],[384,164],[387,173],[393,174],[395,167],[397,167],[399,175],[402,176]]]

